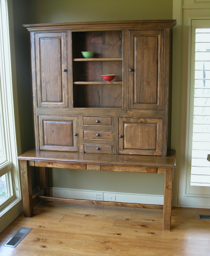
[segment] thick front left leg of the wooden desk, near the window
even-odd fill
[[[22,199],[25,217],[32,217],[34,214],[32,200],[31,172],[28,161],[20,160]]]

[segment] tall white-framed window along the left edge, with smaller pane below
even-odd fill
[[[20,201],[7,1],[0,0],[0,217]]]

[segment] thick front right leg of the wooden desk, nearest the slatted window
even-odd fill
[[[163,207],[163,229],[171,229],[172,214],[172,189],[173,189],[173,168],[165,169],[165,186],[164,186],[164,207]]]

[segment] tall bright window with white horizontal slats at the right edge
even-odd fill
[[[192,20],[190,134],[191,186],[210,186],[210,21]]]

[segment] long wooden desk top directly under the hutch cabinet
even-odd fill
[[[176,167],[175,150],[168,156],[112,155],[98,153],[77,153],[31,149],[18,157],[19,160],[38,162],[64,162],[81,164],[134,165],[147,167]]]

